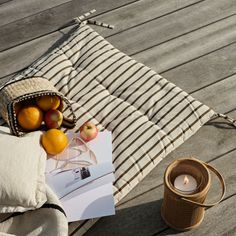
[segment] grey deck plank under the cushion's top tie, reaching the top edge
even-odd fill
[[[98,21],[115,25],[112,31],[102,28],[99,30],[104,37],[110,37],[120,34],[123,31],[136,28],[139,25],[146,24],[149,21],[170,15],[181,9],[190,8],[195,4],[198,5],[198,3],[202,1],[205,0],[145,0],[127,5],[122,9],[107,12],[95,18]],[[135,31],[135,34],[137,33],[138,32]],[[132,35],[132,37],[134,35]],[[122,42],[124,43],[124,38],[122,38]]]

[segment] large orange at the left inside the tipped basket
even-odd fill
[[[36,130],[43,121],[43,112],[34,105],[24,106],[18,111],[17,121],[25,130]]]

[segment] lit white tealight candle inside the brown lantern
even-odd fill
[[[197,189],[197,181],[191,175],[179,175],[174,181],[174,187],[184,194],[191,194]]]

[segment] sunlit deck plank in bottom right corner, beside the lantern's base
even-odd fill
[[[235,180],[235,178],[234,178]],[[236,195],[232,195],[220,205],[206,212],[203,224],[196,230],[178,233],[178,236],[197,235],[236,235]],[[157,235],[173,235],[176,231],[169,229]],[[154,236],[153,235],[153,236]]]

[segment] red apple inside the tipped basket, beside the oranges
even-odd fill
[[[44,116],[44,122],[48,129],[57,129],[61,126],[63,115],[58,110],[49,110]]]

